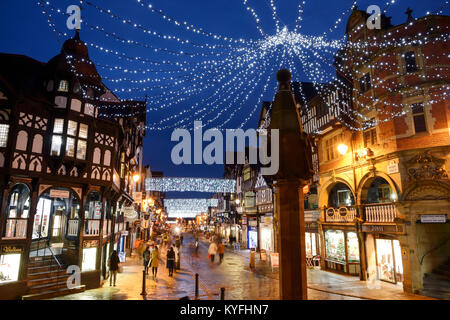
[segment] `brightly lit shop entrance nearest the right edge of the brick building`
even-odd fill
[[[390,239],[376,239],[377,272],[380,280],[403,282],[403,263],[400,242]]]

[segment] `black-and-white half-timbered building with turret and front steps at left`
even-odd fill
[[[0,64],[0,295],[67,292],[68,266],[98,287],[112,250],[124,257],[145,102],[105,87],[78,31],[48,63]]]

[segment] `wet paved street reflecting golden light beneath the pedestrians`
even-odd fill
[[[199,274],[199,299],[219,299],[220,288],[225,288],[226,300],[278,300],[278,270],[270,268],[268,261],[256,259],[256,267],[249,267],[249,250],[225,251],[225,258],[219,263],[208,260],[209,243],[203,239],[198,253],[192,246],[191,234],[184,235],[181,250],[181,270],[168,276],[163,261],[158,268],[158,277],[146,280],[146,296],[142,291],[142,261],[133,254],[124,263],[123,272],[118,274],[117,286],[110,287],[109,281],[102,288],[67,295],[57,299],[76,300],[177,300],[188,296],[195,299],[195,273]],[[151,273],[151,272],[150,272]],[[309,300],[423,300],[431,299],[403,293],[400,286],[378,281],[367,283],[358,277],[345,276],[318,269],[308,269]]]

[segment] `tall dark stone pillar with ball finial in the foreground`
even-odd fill
[[[278,144],[279,150],[278,172],[272,178],[278,216],[280,298],[307,300],[303,187],[314,174],[312,150],[291,91],[291,73],[280,70],[277,80],[280,85],[272,107],[268,135],[271,148]],[[278,130],[278,140],[274,138],[275,130]],[[271,157],[273,160],[274,155]]]

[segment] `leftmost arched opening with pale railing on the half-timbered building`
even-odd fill
[[[6,207],[5,238],[26,238],[30,213],[30,189],[22,183],[10,191]]]

